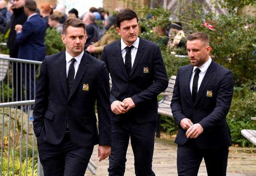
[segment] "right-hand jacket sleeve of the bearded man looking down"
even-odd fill
[[[219,89],[214,110],[199,122],[204,130],[211,129],[217,125],[219,121],[226,121],[225,118],[230,108],[234,90],[234,78],[230,70],[223,74],[218,87]]]

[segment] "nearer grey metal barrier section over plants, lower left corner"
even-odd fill
[[[0,104],[1,176],[42,176],[42,169],[36,162],[38,154],[31,111],[34,102],[27,100]]]

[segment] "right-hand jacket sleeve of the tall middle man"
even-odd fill
[[[152,100],[152,98],[158,96],[158,94],[168,87],[168,77],[164,60],[158,46],[155,47],[153,55],[153,72],[154,82],[146,90],[131,97],[135,105]]]

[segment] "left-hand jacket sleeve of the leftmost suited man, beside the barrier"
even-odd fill
[[[40,135],[44,126],[44,114],[48,106],[49,97],[49,78],[47,74],[46,59],[42,62],[40,74],[37,82],[36,101],[33,111],[33,126],[36,137]]]

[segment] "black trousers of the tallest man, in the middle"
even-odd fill
[[[129,139],[134,154],[136,176],[155,176],[152,170],[156,121],[138,124],[135,121],[112,122],[112,143],[109,176],[123,176]]]

